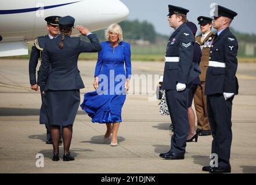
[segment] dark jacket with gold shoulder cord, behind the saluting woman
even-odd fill
[[[46,40],[51,40],[48,35],[45,36],[39,36],[35,39],[35,43],[32,46],[32,50],[30,53],[30,62],[28,65],[28,71],[30,73],[30,84],[38,84],[38,86],[41,86],[41,80],[40,80],[40,68],[38,70],[37,80],[35,77],[35,73],[37,70],[38,60],[42,61],[42,51],[44,50],[45,42]],[[40,66],[41,67],[41,66]]]

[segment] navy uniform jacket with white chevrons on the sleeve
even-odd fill
[[[177,83],[189,84],[200,73],[194,73],[194,35],[186,24],[180,25],[171,35],[165,57],[179,57],[179,62],[165,62],[164,90],[176,90]]]

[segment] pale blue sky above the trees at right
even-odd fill
[[[189,9],[189,21],[197,24],[197,17],[210,16],[211,3],[218,3],[238,13],[232,22],[231,27],[237,31],[256,34],[256,24],[253,18],[256,17],[255,0],[121,0],[130,10],[128,20],[138,19],[149,21],[154,25],[160,34],[169,35],[173,29],[167,21],[168,5],[182,6]]]

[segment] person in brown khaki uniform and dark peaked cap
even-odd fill
[[[210,48],[215,34],[211,32],[212,18],[200,16],[197,17],[202,34],[196,37],[196,42],[201,46],[202,56],[200,62],[201,75],[199,76],[201,84],[197,86],[194,95],[194,108],[197,116],[197,134],[200,136],[211,135],[210,123],[207,114],[207,103],[205,90],[205,76],[209,65]]]

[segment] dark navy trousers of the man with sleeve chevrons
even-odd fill
[[[189,88],[182,92],[165,90],[167,106],[174,127],[174,134],[171,137],[171,152],[179,155],[185,154],[189,132],[188,92]]]

